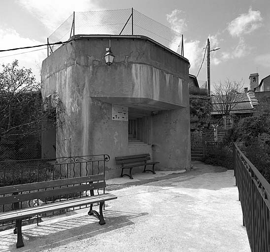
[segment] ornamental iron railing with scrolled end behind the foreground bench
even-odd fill
[[[81,176],[105,174],[106,162],[110,157],[106,154],[91,155],[91,156],[77,156],[77,157],[62,157],[55,159],[28,159],[28,160],[13,160],[0,162],[0,187],[28,184],[34,182],[52,181],[59,179],[68,179]],[[72,186],[72,185],[70,185]],[[35,192],[38,190],[31,190]],[[39,190],[40,191],[40,190]],[[96,194],[105,192],[105,188],[94,191]],[[32,206],[39,206],[43,204],[53,203],[62,200],[75,199],[86,197],[90,195],[89,191],[81,191],[77,193],[67,193],[59,195],[59,197],[51,198],[37,198],[35,200],[20,202],[20,208],[28,208]],[[2,194],[1,197],[10,196],[10,194]],[[90,205],[73,207],[67,209],[65,212],[74,211],[82,208],[88,208]],[[13,204],[2,205],[0,212],[7,212],[13,210]],[[37,223],[40,217],[48,217],[51,215],[58,215],[62,212],[51,212],[42,216],[30,217],[27,220],[30,223],[36,219]],[[4,226],[12,225],[15,221],[7,221],[0,223],[0,230],[5,229]]]

